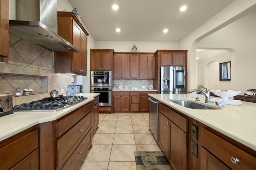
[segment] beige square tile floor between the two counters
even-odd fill
[[[100,113],[92,146],[80,170],[136,170],[134,151],[160,151],[148,113]]]

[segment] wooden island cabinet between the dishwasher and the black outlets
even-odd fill
[[[188,169],[188,119],[159,104],[158,143],[174,170]]]

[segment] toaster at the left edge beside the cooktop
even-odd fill
[[[12,94],[0,93],[0,116],[14,113],[12,108]]]

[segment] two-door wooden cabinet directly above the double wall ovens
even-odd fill
[[[112,70],[114,50],[90,49],[91,70]]]

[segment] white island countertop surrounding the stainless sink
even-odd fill
[[[190,109],[168,101],[168,99],[195,100],[191,97],[199,97],[199,102],[204,103],[205,97],[201,94],[149,94],[149,96],[256,150],[256,103],[242,101],[238,106],[226,105],[221,107],[222,109],[204,110]],[[218,97],[211,96],[211,98]],[[210,105],[216,106],[213,103]]]

